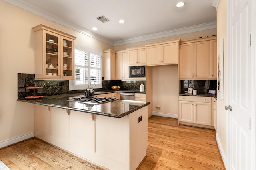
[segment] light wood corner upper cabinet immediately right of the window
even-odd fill
[[[116,80],[116,51],[102,51],[102,63],[104,80]]]

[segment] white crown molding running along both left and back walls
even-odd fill
[[[136,42],[140,42],[140,41],[147,41],[147,40],[151,40],[151,39],[170,37],[170,36],[174,36],[174,35],[192,33],[192,32],[197,32],[197,31],[204,31],[207,29],[214,29],[217,27],[217,22],[214,21],[214,22],[210,22],[210,23],[204,23],[204,24],[200,24],[200,25],[194,25],[191,27],[184,27],[181,29],[174,29],[174,30],[170,30],[170,31],[164,31],[164,32],[160,32],[160,33],[155,33],[155,34],[150,34],[150,35],[145,35],[145,36],[140,36],[140,37],[134,37],[134,38],[130,38],[130,39],[123,39],[123,40],[119,40],[119,41],[110,41],[109,39],[106,39],[88,29],[85,29],[84,27],[81,27],[74,23],[67,22],[66,20],[62,20],[61,18],[58,18],[58,17],[53,16],[43,10],[40,10],[39,8],[36,8],[35,6],[28,4],[24,0],[3,0],[3,1],[7,2],[9,4],[12,4],[14,6],[17,6],[18,8],[22,8],[23,10],[26,10],[26,11],[36,14],[38,16],[41,16],[43,18],[46,18],[47,20],[53,21],[55,23],[58,23],[60,25],[63,25],[70,29],[73,29],[75,31],[78,31],[79,33],[82,33],[89,37],[95,38],[99,41],[102,41],[104,43],[112,45],[112,46],[136,43]],[[215,1],[218,1],[218,0],[212,0],[212,3]],[[218,6],[218,4],[217,4],[217,6]]]

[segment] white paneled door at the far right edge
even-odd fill
[[[250,0],[228,1],[228,162],[232,170],[254,170],[255,61],[250,46]]]

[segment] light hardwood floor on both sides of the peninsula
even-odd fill
[[[215,131],[177,125],[177,119],[148,119],[147,157],[139,170],[223,170]],[[0,150],[11,170],[104,170],[36,138]]]

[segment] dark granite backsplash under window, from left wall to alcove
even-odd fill
[[[31,86],[43,87],[36,90],[28,90],[26,87]],[[94,89],[95,91],[112,90],[113,85],[120,86],[120,90],[140,90],[140,84],[144,84],[144,90],[146,89],[146,81],[103,81],[100,89]],[[45,81],[35,80],[35,74],[18,73],[18,98],[25,98],[26,96],[51,96],[57,94],[74,94],[83,93],[84,90],[72,90],[69,91],[69,80],[66,81]]]

